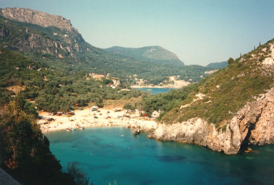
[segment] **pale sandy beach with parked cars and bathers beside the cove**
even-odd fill
[[[100,108],[100,112],[90,111],[89,108],[84,108],[84,110],[75,110],[75,114],[71,117],[67,116],[51,116],[48,112],[39,112],[39,119],[37,123],[40,124],[42,132],[50,132],[52,130],[66,130],[66,128],[78,128],[77,125],[87,128],[87,127],[103,127],[103,126],[140,126],[141,129],[150,130],[151,128],[156,128],[157,124],[153,121],[143,121],[138,120],[139,112],[136,111],[134,114],[127,114],[128,117],[121,117],[125,113],[124,110],[114,112],[112,109]],[[109,112],[109,113],[107,113]],[[101,114],[101,115],[100,115]],[[97,116],[98,118],[94,118]],[[107,118],[110,116],[110,118]],[[47,119],[53,118],[54,120],[49,122]],[[107,118],[107,119],[106,119]]]

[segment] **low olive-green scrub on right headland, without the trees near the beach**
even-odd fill
[[[209,123],[214,123],[219,130],[226,131],[227,121],[246,102],[254,101],[253,97],[257,97],[273,87],[274,79],[270,77],[274,75],[274,71],[259,63],[257,57],[252,57],[252,55],[261,56],[262,49],[267,47],[268,45],[259,46],[252,54],[248,53],[242,55],[241,59],[230,60],[227,68],[219,70],[197,83],[198,91],[193,91],[182,101],[182,105],[185,107],[181,108],[178,121],[200,117]],[[195,95],[199,93],[205,95],[203,99],[193,101],[197,99]],[[172,123],[174,120],[168,119],[168,115],[162,120]]]

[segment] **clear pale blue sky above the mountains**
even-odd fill
[[[273,0],[9,0],[71,20],[98,48],[161,46],[186,65],[237,58],[274,38]]]

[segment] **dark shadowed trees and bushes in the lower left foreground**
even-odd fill
[[[73,184],[36,121],[18,102],[0,108],[1,167],[23,184]]]

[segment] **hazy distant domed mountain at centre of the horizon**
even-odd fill
[[[162,48],[161,46],[146,46],[141,48],[124,48],[120,46],[113,46],[104,50],[114,54],[134,57],[136,59],[184,66],[184,63],[177,57],[176,54]]]

